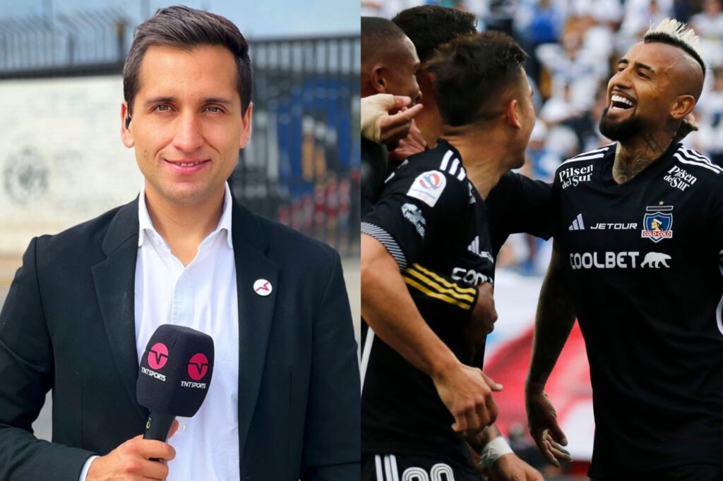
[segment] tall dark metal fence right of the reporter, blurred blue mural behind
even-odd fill
[[[359,37],[252,43],[254,125],[234,191],[251,209],[359,253]]]

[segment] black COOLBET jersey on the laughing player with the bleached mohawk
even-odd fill
[[[563,162],[552,232],[590,362],[591,477],[723,464],[723,168],[683,144],[630,181]]]

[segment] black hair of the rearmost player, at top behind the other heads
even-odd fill
[[[474,14],[444,6],[422,5],[402,10],[392,19],[414,43],[420,61],[459,35],[477,32]]]

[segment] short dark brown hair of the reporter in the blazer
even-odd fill
[[[228,48],[236,60],[236,90],[241,97],[241,115],[251,103],[251,60],[249,44],[238,27],[221,15],[169,6],[159,9],[153,17],[138,25],[130,51],[123,66],[123,95],[132,113],[133,101],[140,88],[140,63],[151,45],[168,45],[190,50],[200,45],[221,45]]]

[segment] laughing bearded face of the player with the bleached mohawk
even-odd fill
[[[701,72],[694,62],[680,48],[666,43],[633,45],[608,82],[601,133],[625,141],[646,131],[664,131],[671,121],[683,118],[681,102],[692,99],[688,94],[695,90],[693,83]]]

